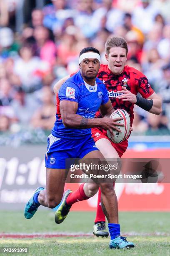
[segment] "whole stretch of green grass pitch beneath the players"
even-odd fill
[[[92,236],[93,219],[94,212],[70,212],[62,224],[56,225],[52,211],[39,210],[31,220],[26,220],[21,211],[0,211],[1,234],[65,234],[65,237],[55,238],[0,238],[0,247],[28,247],[29,255],[170,255],[168,212],[120,212],[122,235],[127,234],[128,240],[136,245],[134,249],[123,251],[110,250],[109,238]],[[79,233],[84,236],[69,236]]]

